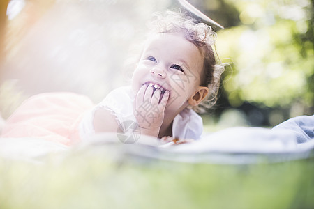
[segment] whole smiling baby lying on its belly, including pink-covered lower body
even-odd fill
[[[195,111],[216,102],[223,70],[215,59],[215,36],[210,26],[183,13],[155,15],[130,86],[110,92],[95,107],[74,93],[35,95],[8,118],[1,137],[73,145],[99,132],[126,130],[128,121],[143,136],[199,139],[203,124]]]

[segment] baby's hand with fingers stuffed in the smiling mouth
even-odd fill
[[[146,84],[138,91],[134,100],[134,116],[139,127],[144,129],[144,134],[146,132],[146,134],[158,137],[169,94],[169,91],[165,91],[162,96],[160,89],[154,91],[153,86]]]

